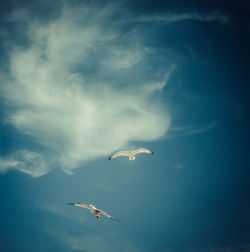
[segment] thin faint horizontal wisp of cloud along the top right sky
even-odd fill
[[[228,17],[218,11],[213,11],[209,14],[199,14],[199,13],[182,13],[182,14],[157,14],[157,15],[142,15],[136,18],[128,19],[129,22],[162,22],[164,24],[169,24],[173,22],[181,22],[186,20],[194,20],[201,22],[211,22],[216,21],[220,23],[226,23]]]

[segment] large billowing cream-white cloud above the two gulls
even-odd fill
[[[64,5],[46,22],[21,9],[8,19],[22,24],[18,32],[25,45],[8,50],[9,69],[1,75],[2,98],[10,108],[5,121],[50,155],[20,150],[1,160],[2,170],[40,176],[53,163],[71,173],[131,141],[166,133],[170,115],[155,98],[172,68],[147,71],[153,67],[151,54],[140,35],[122,32],[113,22],[117,8]]]

